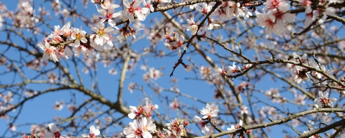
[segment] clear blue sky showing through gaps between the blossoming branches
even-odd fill
[[[78,1],[79,2],[79,1]],[[6,4],[7,8],[9,10],[14,10],[17,7],[17,1],[16,2],[10,2],[10,1],[2,1],[2,3]],[[42,3],[42,1],[34,1],[35,5],[43,5],[46,7],[46,9],[50,8],[50,5],[46,3]],[[119,4],[120,1],[115,1],[115,4]],[[80,4],[77,5],[77,9],[78,6],[81,6]],[[35,7],[35,9],[37,10],[38,7]],[[118,9],[116,9],[118,11]],[[98,15],[96,8],[92,5],[92,3],[88,4],[88,9],[85,12],[85,16],[89,16],[92,17],[93,14]],[[47,21],[49,24],[51,24],[51,26],[56,26],[56,25],[60,25],[60,27],[63,25],[61,22],[57,21],[55,18],[56,16],[54,16],[54,13],[51,13],[51,16],[53,17],[52,20]],[[143,22],[144,24],[146,24],[146,26],[150,26],[149,20],[154,20],[154,18],[162,18],[160,13],[151,13],[149,15],[149,17]],[[197,18],[196,18],[197,19]],[[7,20],[8,21],[8,20]],[[72,21],[71,18],[68,18],[67,21]],[[75,22],[75,25],[72,27],[76,27],[79,28],[80,25],[83,25],[83,29],[90,33],[92,32],[89,28],[86,27],[85,24],[83,24],[80,20],[77,20]],[[50,30],[48,30],[48,28],[41,28],[41,29],[45,29],[48,32]],[[258,29],[255,29],[258,31]],[[24,31],[25,32],[25,31]],[[3,35],[3,32],[0,32],[0,36]],[[143,32],[141,33],[143,34]],[[31,36],[30,33],[26,34],[28,37]],[[43,38],[43,36],[38,36],[38,38]],[[13,36],[12,39],[16,39],[16,36]],[[1,40],[1,38],[0,38]],[[205,44],[205,46],[207,47],[207,43],[203,43]],[[18,42],[18,45],[24,45],[23,42]],[[135,43],[134,45],[131,46],[132,49],[136,50],[136,51],[141,51],[142,48],[146,47],[149,44],[149,41],[146,39],[140,40],[139,42]],[[6,47],[0,47],[0,51],[3,51]],[[160,45],[158,45],[158,49],[160,50],[164,50],[166,53],[168,53],[168,49],[165,48],[164,45],[162,45],[162,43],[160,43]],[[222,55],[228,55],[228,53],[225,50],[222,50],[220,47],[216,47],[217,51],[219,51],[219,53],[221,53]],[[200,60],[202,59],[202,57],[200,57],[199,55],[196,55],[195,53],[191,53],[190,54],[189,50],[187,52],[187,54],[184,57],[184,61],[186,60],[186,57],[189,56],[191,57],[194,62],[196,63],[196,65],[205,65],[208,66],[208,63],[205,62],[204,60]],[[246,53],[247,56],[251,57],[250,55],[252,55],[253,52],[249,51]],[[5,53],[5,55],[13,58],[13,59],[18,59],[18,51],[16,50],[10,50],[7,53]],[[171,79],[172,78],[177,78],[179,81],[176,83],[178,85],[178,88],[180,89],[180,91],[182,93],[186,93],[188,95],[194,96],[196,98],[199,98],[201,100],[204,101],[210,101],[210,102],[214,102],[214,101],[219,101],[219,100],[215,100],[215,99],[210,99],[210,97],[214,96],[214,87],[212,87],[211,85],[207,85],[206,82],[204,81],[199,81],[199,80],[186,80],[185,78],[193,78],[195,75],[193,72],[186,72],[183,67],[180,65],[174,72],[174,76],[173,77],[169,77],[170,72],[172,71],[172,66],[174,65],[174,63],[177,61],[179,57],[177,56],[177,54],[175,54],[174,56],[170,56],[170,57],[164,57],[164,58],[158,58],[158,57],[145,57],[145,59],[147,60],[147,65],[149,67],[154,67],[156,69],[160,68],[160,67],[164,67],[164,69],[161,70],[161,72],[164,73],[164,76],[162,76],[161,78],[159,78],[156,82],[164,87],[164,88],[170,88],[171,87]],[[211,57],[212,58],[212,57]],[[65,60],[61,60],[60,61],[63,65],[66,65],[66,63],[68,63],[69,65],[72,65],[72,62],[69,61],[65,61]],[[139,66],[141,65],[142,62],[139,62]],[[187,62],[189,63],[189,62]],[[217,63],[217,62],[216,62]],[[231,65],[232,62],[229,62],[228,65]],[[222,66],[220,65],[220,63],[217,63],[218,66]],[[49,64],[47,66],[46,69],[49,69],[49,67],[52,67],[52,64]],[[241,65],[242,66],[242,65]],[[118,71],[118,75],[112,76],[108,74],[108,70],[109,67],[104,68],[102,64],[98,64],[98,70],[97,70],[97,76],[98,76],[98,80],[99,80],[99,88],[101,91],[101,94],[106,97],[107,99],[109,99],[110,101],[116,101],[117,99],[117,89],[118,89],[118,80],[119,80],[119,73],[120,73],[120,69],[118,67],[116,67],[115,65],[110,65],[110,67],[114,67],[117,69]],[[120,66],[122,67],[122,65]],[[81,70],[83,68],[82,65],[79,65],[79,69]],[[5,70],[6,68],[4,68],[3,66],[0,66],[0,71]],[[69,70],[72,74],[76,74],[76,71],[74,68]],[[30,69],[24,70],[24,73],[27,75],[28,78],[30,78],[30,76],[32,77],[34,71],[31,71]],[[158,111],[164,112],[165,110],[169,110],[169,108],[165,107],[166,105],[162,105],[160,100],[157,99],[157,96],[155,95],[155,93],[149,89],[146,85],[145,82],[142,80],[142,74],[144,74],[146,71],[140,70],[140,67],[137,67],[134,71],[129,71],[127,73],[127,76],[131,75],[131,74],[135,74],[134,76],[128,78],[125,80],[125,88],[124,88],[124,101],[126,105],[132,105],[132,106],[137,106],[140,103],[142,103],[142,101],[144,100],[144,96],[141,94],[140,91],[135,90],[132,94],[128,91],[127,86],[128,83],[130,82],[137,82],[138,84],[144,86],[144,90],[146,91],[146,93],[149,96],[152,96],[152,101],[154,102],[154,104],[158,104],[159,105],[159,109]],[[58,72],[56,72],[58,74]],[[13,74],[6,74],[6,75],[1,75],[0,76],[0,81],[3,84],[7,84],[10,83],[12,80],[11,79],[3,79],[3,78],[13,78]],[[45,79],[47,77],[45,76]],[[74,78],[77,78],[76,76],[74,76]],[[87,88],[90,88],[91,86],[91,81],[90,81],[90,77],[89,75],[85,75],[82,73],[82,79],[84,82],[84,85]],[[20,82],[20,78],[16,77],[14,82]],[[234,80],[235,84],[239,84],[240,82],[242,82],[240,79],[235,79]],[[269,83],[267,83],[269,82]],[[261,89],[263,91],[269,90],[270,88],[279,88],[283,85],[285,85],[284,83],[282,83],[281,81],[276,81],[275,83],[270,83],[272,82],[272,80],[270,80],[269,77],[264,77],[263,80],[261,82],[258,82],[256,85],[256,89]],[[49,86],[49,85],[30,85],[30,88],[32,89],[37,89],[37,90],[43,90],[43,89],[47,89],[50,87],[54,87],[54,86]],[[23,132],[29,132],[30,126],[23,126],[20,127],[21,124],[25,124],[25,123],[29,123],[29,124],[40,124],[40,123],[45,123],[48,124],[50,122],[53,122],[52,119],[53,117],[68,117],[71,113],[68,111],[67,107],[65,106],[61,111],[56,111],[53,110],[53,105],[55,104],[55,101],[65,101],[65,102],[69,102],[71,99],[71,95],[72,94],[76,95],[76,103],[77,105],[81,104],[82,102],[84,102],[86,99],[89,99],[89,97],[87,96],[83,96],[82,93],[77,92],[77,91],[71,91],[71,90],[64,90],[64,91],[58,91],[58,92],[50,92],[48,94],[45,95],[41,95],[33,100],[29,100],[27,101],[24,106],[23,109],[21,111],[21,115],[18,117],[17,121],[14,122],[15,125],[18,125],[17,130],[19,131],[23,131]],[[171,92],[162,92],[161,93],[164,96],[169,96],[169,97],[176,97],[175,94],[171,93]],[[263,100],[266,100],[267,98],[265,97],[265,95],[261,94],[261,93],[256,93],[257,97]],[[245,99],[245,96],[242,95],[243,98]],[[282,96],[288,98],[288,99],[292,99],[293,100],[293,95],[291,93],[287,93],[284,92],[282,93]],[[182,103],[189,105],[191,107],[195,107],[198,110],[202,109],[203,107],[205,107],[205,104],[199,103],[199,102],[195,102],[193,100],[190,100],[188,98],[185,97],[178,97],[179,101],[181,101]],[[14,99],[14,103],[16,103],[16,101],[18,101],[17,99]],[[268,103],[271,103],[269,101],[269,99],[266,100]],[[312,102],[311,100],[308,100],[307,102]],[[247,100],[244,100],[244,104],[247,106],[248,102]],[[257,104],[258,107],[261,107],[263,104]],[[281,107],[280,104],[273,104],[274,106],[278,106]],[[223,108],[223,107],[222,107]],[[290,112],[295,112],[295,111],[300,111],[300,110],[304,110],[304,109],[297,109],[295,108],[295,106],[290,105],[289,103],[287,105],[285,105],[285,108],[287,108]],[[306,109],[306,108],[305,108]],[[97,111],[97,109],[95,108],[91,108],[92,111]],[[11,113],[12,115],[16,114],[17,112],[13,112]],[[77,115],[81,115],[84,112],[79,112]],[[195,115],[195,112],[190,112],[190,114],[192,116]],[[257,115],[257,113],[255,113]],[[175,111],[170,110],[170,115],[172,117],[176,117],[176,113]],[[112,116],[119,117],[120,114],[115,113],[112,114]],[[230,117],[222,117],[227,121],[233,121],[231,120]],[[102,117],[100,117],[99,119],[102,119]],[[172,118],[171,118],[172,119]],[[130,121],[130,119],[124,119],[122,122],[124,122],[124,124],[128,124],[128,122]],[[266,120],[268,121],[268,120]],[[1,119],[0,120],[0,128],[7,128],[7,123],[8,121]],[[90,122],[89,125],[92,125],[93,122]],[[89,126],[88,125],[88,126]],[[235,124],[234,124],[235,125]],[[227,126],[228,127],[228,126]],[[284,134],[282,133],[280,128],[284,128],[285,130],[291,131],[290,128],[288,127],[282,127],[282,125],[278,126],[279,127],[279,131],[274,131],[275,128],[277,128],[277,126],[271,127],[271,129],[273,131],[271,131],[269,133],[270,136],[276,136],[276,137],[283,137]],[[193,131],[195,132],[199,132],[199,134],[201,133],[198,129],[195,129],[194,125],[191,125],[190,128],[193,129]],[[110,130],[115,130],[115,131],[119,131],[121,130],[121,127],[118,128],[110,128]],[[226,128],[224,128],[226,129]],[[0,136],[2,136],[2,134],[4,133],[6,129],[0,129]],[[301,129],[303,130],[303,129]],[[88,132],[88,129],[84,129],[84,131],[80,132],[80,134],[82,133],[86,133]],[[7,135],[9,135],[10,132],[8,132]],[[74,134],[73,136],[79,136],[80,134]],[[294,134],[294,133],[292,133]],[[295,134],[294,134],[295,135]]]

